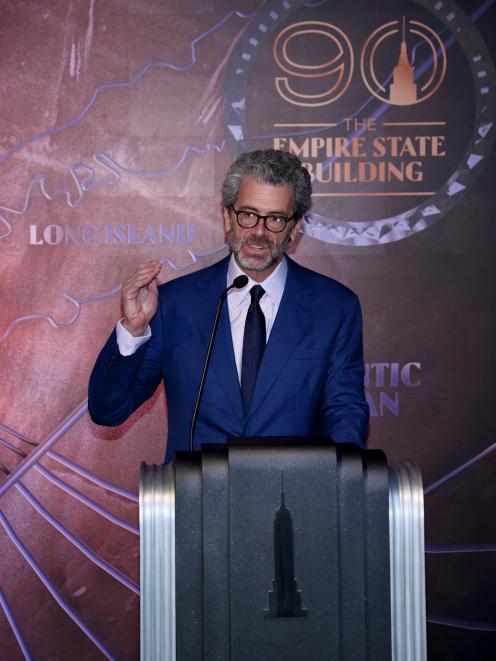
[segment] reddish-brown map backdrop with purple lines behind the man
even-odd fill
[[[123,278],[226,254],[220,186],[314,180],[292,248],[363,305],[369,447],[426,486],[431,659],[494,658],[494,0],[2,0],[0,657],[139,655],[163,389],[87,415]],[[174,415],[170,411],[170,415]]]

